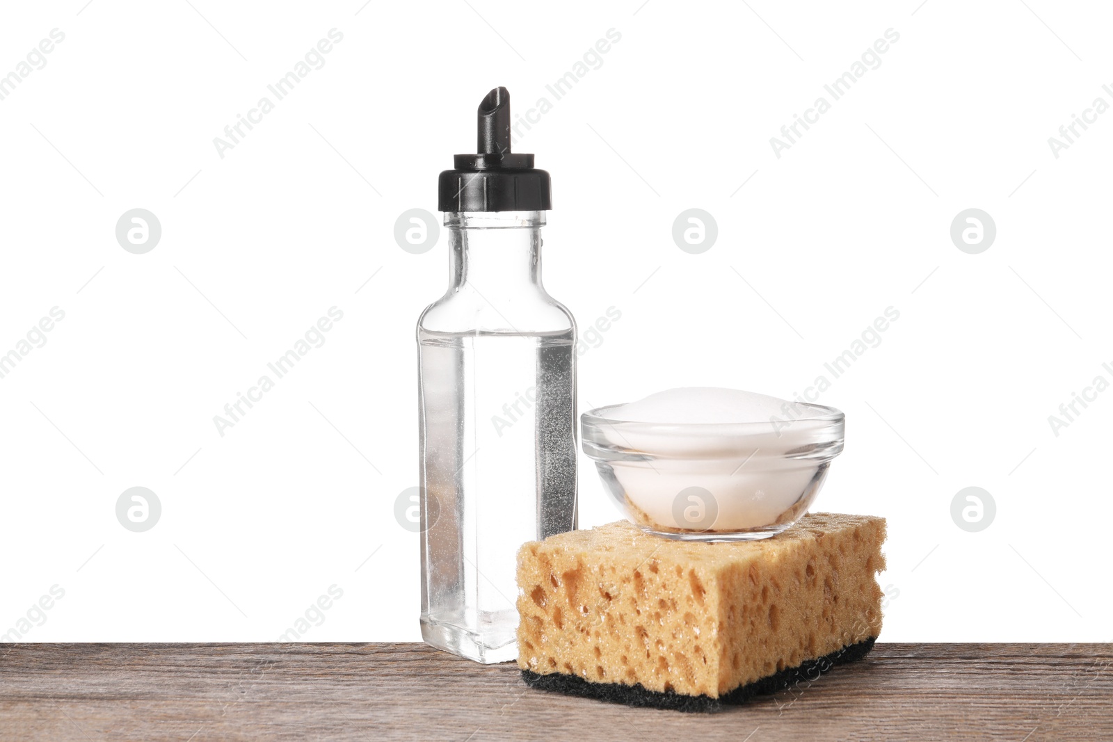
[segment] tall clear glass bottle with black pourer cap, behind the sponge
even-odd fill
[[[518,656],[519,547],[577,526],[575,321],[541,284],[549,175],[509,117],[492,90],[480,154],[441,176],[450,285],[417,323],[422,637],[484,663]]]

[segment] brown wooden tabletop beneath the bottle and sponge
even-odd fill
[[[423,644],[0,647],[2,740],[1113,740],[1113,644],[883,644],[718,714],[528,689]]]

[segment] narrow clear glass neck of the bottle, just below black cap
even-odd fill
[[[541,287],[544,211],[449,211],[450,290],[505,295]]]

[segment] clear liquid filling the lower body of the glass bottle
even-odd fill
[[[574,527],[574,332],[421,332],[427,611],[442,649],[518,656],[515,557]],[[426,602],[423,601],[423,602]]]

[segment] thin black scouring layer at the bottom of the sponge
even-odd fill
[[[767,675],[760,680],[740,685],[726,695],[712,699],[710,695],[684,695],[676,691],[650,691],[637,683],[592,683],[579,675],[564,673],[539,674],[531,670],[522,671],[522,680],[530,687],[565,695],[579,695],[608,703],[622,703],[628,706],[669,709],[689,713],[710,713],[722,711],[728,705],[746,703],[755,695],[782,691],[798,684],[811,683],[835,665],[846,664],[863,659],[874,647],[876,637],[850,644],[817,660],[808,660],[796,667],[787,667],[780,672]]]

